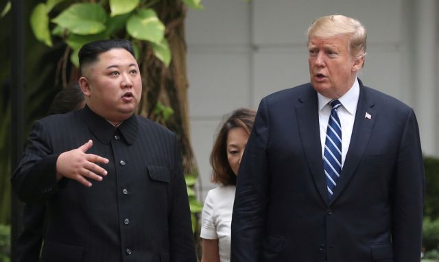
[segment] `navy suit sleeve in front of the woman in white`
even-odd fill
[[[268,108],[261,101],[237,176],[231,261],[260,261],[268,198]]]

